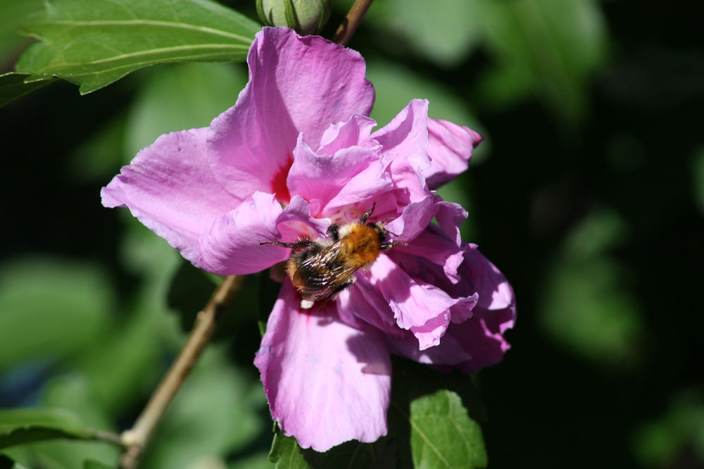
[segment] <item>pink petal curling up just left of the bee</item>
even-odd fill
[[[199,267],[219,275],[259,272],[291,254],[291,249],[260,242],[294,242],[300,235],[320,237],[327,225],[310,216],[308,202],[301,197],[294,197],[283,209],[272,194],[255,192],[203,233]]]

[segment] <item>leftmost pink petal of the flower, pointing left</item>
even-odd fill
[[[162,135],[101,190],[103,206],[130,208],[132,215],[196,265],[201,233],[239,204],[210,170],[207,132]]]

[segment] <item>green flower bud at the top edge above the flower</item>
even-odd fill
[[[300,35],[314,35],[325,26],[332,0],[256,0],[257,14],[267,26],[288,26]]]

